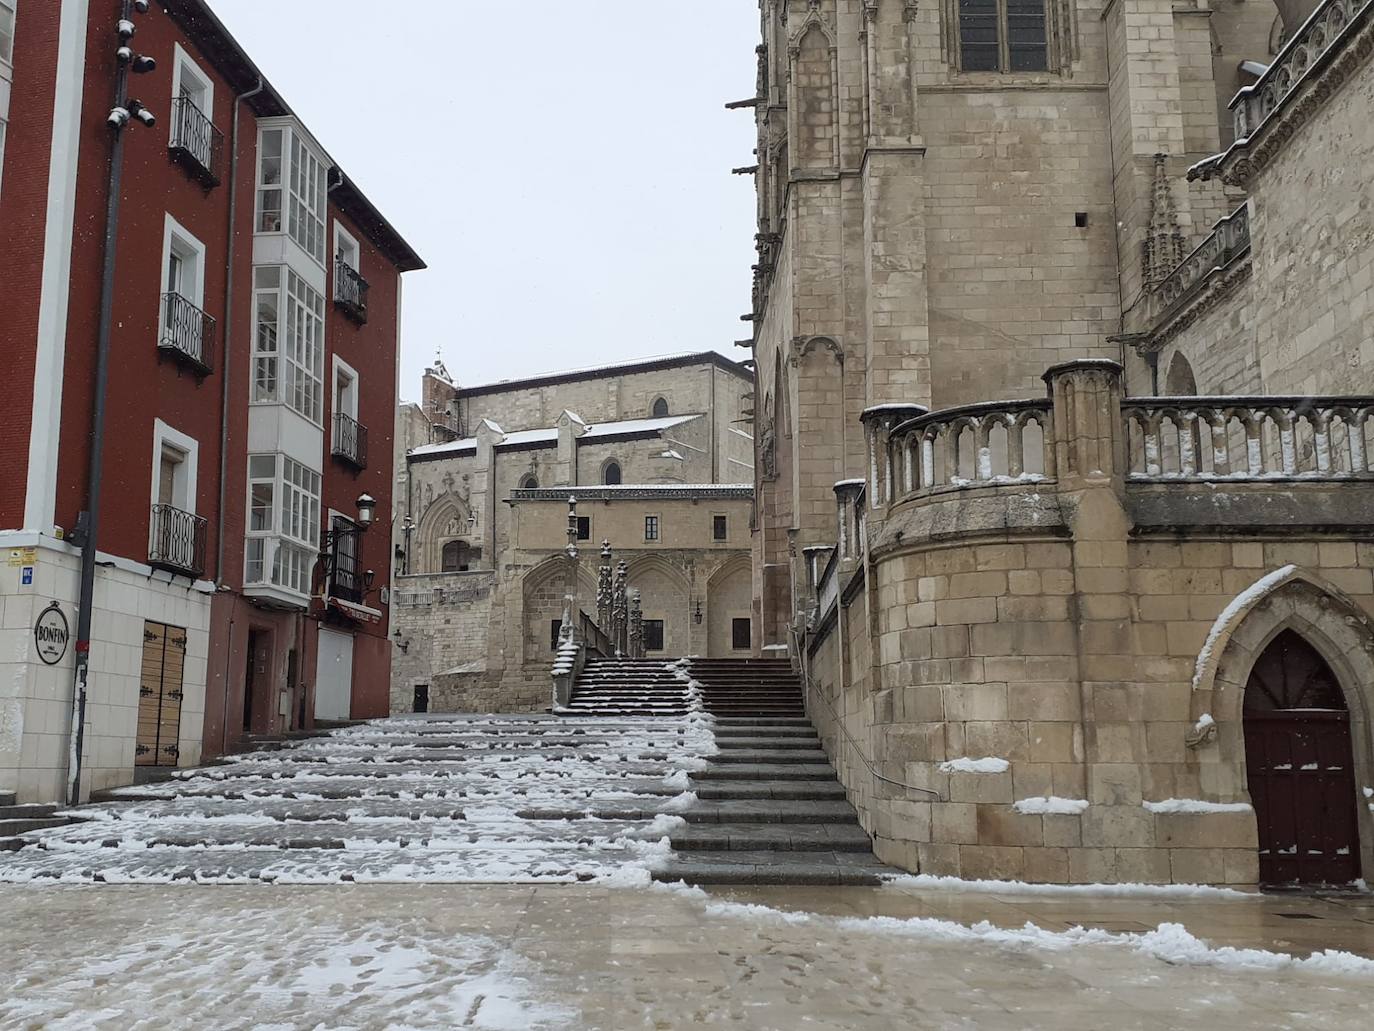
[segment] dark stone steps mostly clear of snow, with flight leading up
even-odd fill
[[[807,719],[786,661],[694,658],[588,664],[570,708],[605,716],[710,713],[716,755],[690,775],[697,799],[675,811],[673,855],[653,877],[690,884],[878,884],[853,807]]]

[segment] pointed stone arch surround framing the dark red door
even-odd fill
[[[1285,566],[1242,591],[1217,617],[1198,657],[1191,697],[1204,796],[1254,803],[1246,756],[1246,690],[1265,650],[1285,631],[1298,635],[1330,668],[1349,712],[1359,832],[1359,870],[1374,874],[1374,624],[1369,613],[1319,576]]]

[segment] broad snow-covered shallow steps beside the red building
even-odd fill
[[[73,810],[0,883],[647,880],[708,751],[699,716],[376,720]]]

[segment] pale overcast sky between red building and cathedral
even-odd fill
[[[752,0],[212,0],[429,263],[401,395],[747,335]]]

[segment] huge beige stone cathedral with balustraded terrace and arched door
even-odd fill
[[[757,625],[879,858],[1374,877],[1374,3],[760,10]]]

